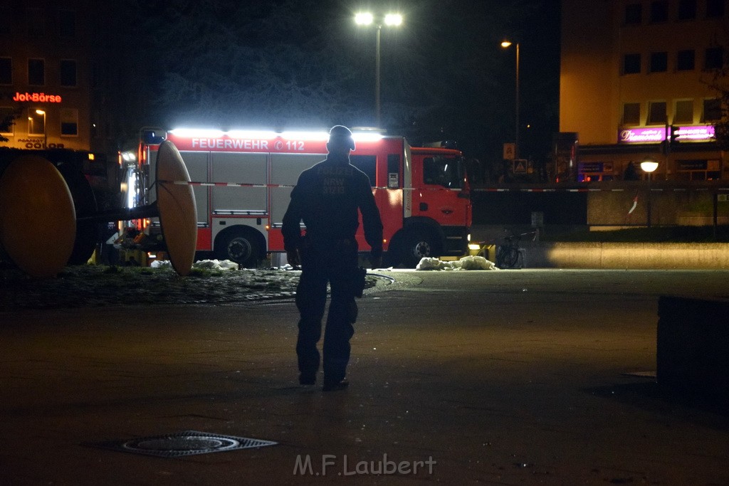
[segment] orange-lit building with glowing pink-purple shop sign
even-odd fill
[[[720,101],[707,85],[726,60],[728,3],[562,0],[560,132],[577,147],[570,177],[623,179],[630,162],[654,160],[654,179],[729,179],[713,141]]]

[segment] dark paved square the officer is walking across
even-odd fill
[[[393,275],[337,393],[295,382],[290,301],[0,313],[0,484],[729,484],[728,411],[640,376],[658,296],[728,273]],[[184,430],[278,444],[83,445]]]

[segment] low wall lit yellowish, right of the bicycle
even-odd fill
[[[526,268],[729,269],[729,243],[522,242]]]

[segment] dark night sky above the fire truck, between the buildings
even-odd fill
[[[120,133],[130,127],[373,126],[375,28],[354,13],[384,1],[114,2],[103,45]],[[559,7],[547,0],[395,0],[381,31],[382,125],[411,143],[456,140],[501,162],[513,141],[520,43],[521,155],[558,131]],[[143,55],[141,55],[141,53]],[[529,128],[527,128],[529,126]]]

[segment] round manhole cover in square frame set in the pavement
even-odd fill
[[[92,442],[84,445],[134,454],[157,455],[163,458],[179,458],[185,455],[210,454],[211,452],[226,452],[275,444],[276,442],[269,440],[184,431],[176,434],[141,437],[126,441]]]

